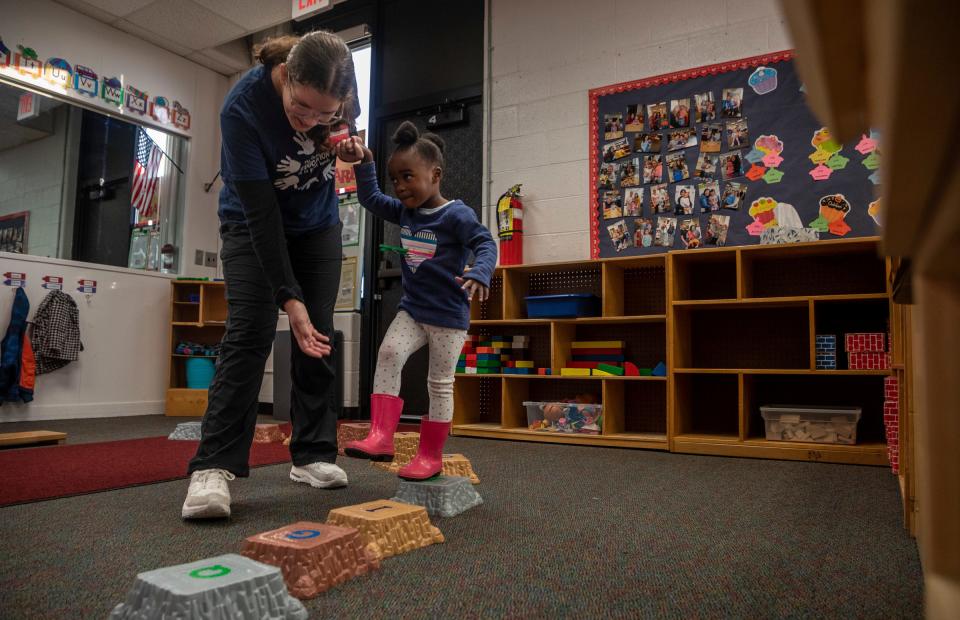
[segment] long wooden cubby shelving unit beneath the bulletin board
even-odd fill
[[[593,292],[602,316],[527,319],[527,295]],[[692,454],[884,465],[883,378],[845,368],[842,334],[888,331],[887,265],[875,238],[671,252],[498,268],[470,333],[527,335],[558,372],[575,340],[623,340],[666,377],[457,375],[453,434]],[[816,370],[814,336],[838,336],[838,370]],[[592,393],[600,435],[527,429],[525,400]],[[853,446],[768,441],[760,406],[857,405]]]

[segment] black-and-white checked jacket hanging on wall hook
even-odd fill
[[[73,297],[50,291],[33,315],[30,342],[37,360],[37,374],[63,368],[80,357],[80,311]]]

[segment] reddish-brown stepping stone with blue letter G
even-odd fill
[[[299,599],[380,568],[380,559],[364,547],[356,529],[309,521],[251,536],[241,553],[280,567],[287,589]]]

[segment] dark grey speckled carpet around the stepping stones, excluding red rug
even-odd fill
[[[447,542],[307,601],[311,617],[922,616],[914,541],[889,470],[452,438],[484,505]],[[186,481],[0,508],[0,615],[103,618],[137,572],[238,551],[251,534],[388,498],[289,466],[232,483],[234,517],[184,523]]]

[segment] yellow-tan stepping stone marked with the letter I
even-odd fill
[[[389,499],[334,508],[327,523],[359,530],[363,544],[379,559],[443,542],[426,508]]]

